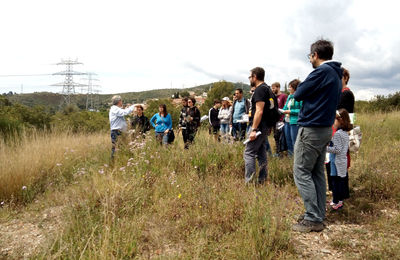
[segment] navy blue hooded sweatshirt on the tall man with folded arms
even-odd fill
[[[328,61],[318,66],[300,83],[294,93],[303,101],[297,124],[300,126],[332,126],[342,90],[341,63]]]

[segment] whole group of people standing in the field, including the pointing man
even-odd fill
[[[332,60],[333,44],[322,39],[314,42],[310,49],[308,59],[314,70],[303,82],[292,80],[288,85],[289,95],[281,93],[279,83],[268,86],[264,82],[264,69],[256,67],[249,76],[250,100],[243,97],[242,89],[236,89],[232,105],[228,97],[222,101],[215,100],[208,114],[210,131],[216,140],[220,139],[219,133],[221,136],[231,134],[235,140],[243,140],[247,134],[249,142],[243,155],[245,183],[256,175],[256,160],[259,164],[257,182],[263,184],[267,179],[269,133],[274,132],[277,154],[285,149],[285,143],[289,155],[293,156],[294,180],[305,207],[305,213],[293,225],[293,230],[299,232],[325,228],[325,167],[329,189],[333,193],[332,209],[343,207],[344,199],[348,198],[348,132],[353,127],[349,113],[354,112],[354,95],[347,87],[350,74],[341,67],[341,63]],[[282,114],[278,123],[271,120],[275,102]],[[200,126],[200,112],[195,103],[194,98],[182,100],[179,129],[186,149],[192,144]],[[119,96],[113,98],[110,109],[112,156],[115,140],[126,128],[123,116],[132,111],[133,106],[122,109]],[[134,120],[144,121],[139,118]],[[172,121],[166,106],[160,105],[159,113],[149,122],[155,128],[157,139],[167,144]],[[148,130],[147,123],[137,124]],[[330,154],[329,162],[326,161],[326,152]]]

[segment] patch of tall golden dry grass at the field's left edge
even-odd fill
[[[0,142],[0,201],[29,202],[45,186],[85,160],[104,160],[104,133],[72,135],[33,132],[18,142]],[[101,155],[101,156],[100,156]],[[100,157],[103,157],[100,159]]]

